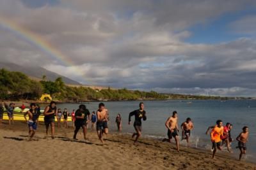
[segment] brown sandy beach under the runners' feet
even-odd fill
[[[128,134],[110,133],[102,146],[96,132],[88,130],[88,140],[82,131],[79,141],[72,141],[72,127],[56,127],[55,139],[44,139],[44,124],[39,125],[35,141],[28,141],[25,122],[3,124],[0,128],[0,169],[256,169],[256,164],[239,162],[225,153],[216,160],[211,152],[173,143],[141,138],[132,145]],[[237,155],[238,156],[238,155]]]

